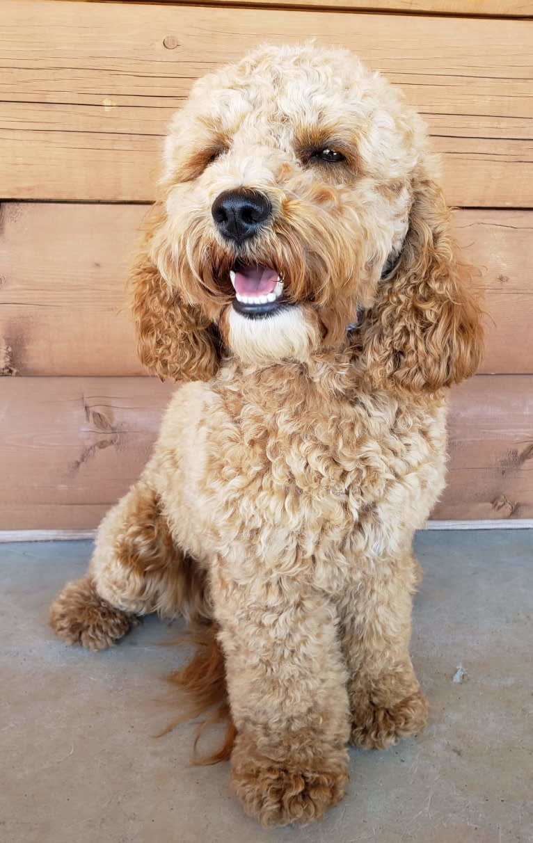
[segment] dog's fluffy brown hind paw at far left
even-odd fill
[[[89,577],[67,583],[51,604],[52,629],[67,644],[81,644],[89,650],[105,650],[138,623],[106,603]]]

